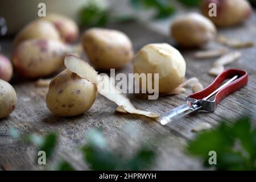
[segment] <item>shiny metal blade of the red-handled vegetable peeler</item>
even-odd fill
[[[185,115],[188,115],[200,109],[201,109],[201,106],[196,104],[193,106],[189,106],[188,104],[181,105],[179,107],[176,107],[175,109],[172,109],[168,113],[164,114],[160,123],[162,125],[167,125],[168,123],[174,121],[175,119],[182,118]]]

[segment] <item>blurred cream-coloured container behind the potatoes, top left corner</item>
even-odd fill
[[[46,13],[54,12],[66,15],[76,22],[79,11],[88,0],[3,0],[0,1],[0,16],[6,19],[7,34],[15,34],[28,22],[38,18],[38,4],[46,4]]]

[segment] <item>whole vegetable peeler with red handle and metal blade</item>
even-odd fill
[[[225,80],[228,81],[222,84]],[[223,98],[241,89],[243,86],[247,85],[247,82],[248,73],[246,71],[227,69],[218,75],[207,88],[187,96],[186,104],[176,107],[164,114],[160,123],[167,125],[175,119],[179,119],[199,110],[213,112]],[[213,96],[214,98],[212,98]]]

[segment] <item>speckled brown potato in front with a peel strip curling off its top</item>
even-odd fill
[[[65,69],[51,81],[46,104],[53,114],[70,117],[85,113],[96,96],[96,85]]]

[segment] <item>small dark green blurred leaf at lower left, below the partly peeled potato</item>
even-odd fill
[[[40,151],[46,152],[46,158],[50,158],[53,154],[53,151],[55,149],[57,143],[57,136],[54,133],[46,135],[44,142],[40,146]]]

